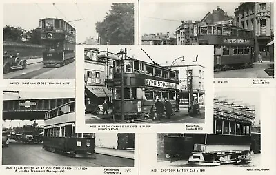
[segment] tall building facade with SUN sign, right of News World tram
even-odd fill
[[[255,60],[258,54],[263,61],[274,61],[274,4],[271,2],[240,3],[235,9],[235,25],[239,28],[253,30]]]

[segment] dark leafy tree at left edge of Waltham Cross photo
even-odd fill
[[[22,28],[14,28],[10,25],[6,25],[3,28],[3,40],[14,42],[21,41],[25,32],[26,30],[23,30]]]

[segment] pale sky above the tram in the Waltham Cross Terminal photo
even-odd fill
[[[103,21],[112,6],[110,2],[91,3],[4,3],[3,27],[12,25],[25,30],[39,27],[39,19],[57,17],[66,21],[82,19],[70,23],[77,31],[77,43],[86,37],[97,39],[95,23]]]

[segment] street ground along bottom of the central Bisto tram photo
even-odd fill
[[[200,107],[200,114],[194,116],[188,115],[188,107],[180,107],[178,112],[175,112],[170,119],[162,118],[161,120],[153,119],[134,119],[134,123],[204,123],[205,121],[205,107]],[[114,121],[112,110],[108,110],[109,114],[86,114],[86,124],[92,123],[121,123],[121,121]]]

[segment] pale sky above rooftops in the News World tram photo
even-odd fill
[[[158,32],[174,33],[183,21],[200,21],[208,12],[213,12],[219,6],[230,16],[239,6],[239,2],[233,3],[141,3],[140,29],[141,34],[157,34]],[[159,19],[153,19],[159,18]],[[170,19],[176,21],[160,20]],[[153,27],[154,26],[154,27]]]

